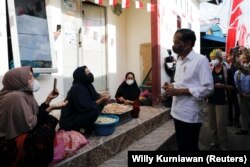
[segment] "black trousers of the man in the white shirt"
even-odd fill
[[[186,123],[174,119],[179,151],[199,151],[198,141],[201,123]]]

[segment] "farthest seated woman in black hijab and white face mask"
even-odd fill
[[[140,112],[139,103],[140,89],[136,83],[135,75],[132,72],[128,72],[125,75],[125,80],[118,87],[115,98],[118,103],[132,105],[132,117],[138,118]]]

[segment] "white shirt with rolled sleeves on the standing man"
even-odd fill
[[[179,58],[174,80],[175,88],[188,88],[191,96],[174,96],[171,115],[183,122],[201,123],[203,120],[203,99],[214,90],[208,59],[193,50],[183,60]]]

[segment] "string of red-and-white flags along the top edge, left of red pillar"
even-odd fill
[[[82,0],[82,1],[93,2],[93,3],[98,4],[98,5],[103,5],[103,2],[104,2],[104,0]],[[118,1],[121,3],[121,7],[123,9],[129,8],[131,6],[132,2],[134,3],[134,6],[136,9],[142,9],[142,8],[146,7],[146,10],[148,12],[154,11],[155,7],[156,7],[155,4],[152,4],[149,2],[144,2],[142,0],[109,0],[108,4],[110,6],[116,6],[119,3]]]

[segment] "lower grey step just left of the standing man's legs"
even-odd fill
[[[174,134],[173,120],[169,120],[98,167],[127,167],[128,151],[175,150],[171,147],[172,143],[175,142]],[[176,146],[176,144],[173,144],[173,146]]]

